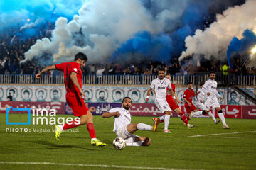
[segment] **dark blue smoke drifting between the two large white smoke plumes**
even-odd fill
[[[181,17],[181,26],[171,33],[159,33],[151,35],[146,31],[140,31],[134,38],[127,40],[122,47],[114,52],[110,61],[116,60],[118,56],[125,54],[142,54],[150,60],[171,62],[172,56],[179,56],[185,49],[185,38],[192,35],[197,28],[203,26],[203,16],[206,16],[207,8],[201,4],[191,4],[186,8]]]

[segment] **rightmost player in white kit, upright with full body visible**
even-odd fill
[[[215,81],[215,72],[210,72],[210,79],[206,81],[203,85],[202,91],[206,94],[206,102],[205,108],[203,111],[203,115],[210,111],[210,108],[213,107],[218,111],[218,116],[223,123],[223,128],[230,129],[225,122],[225,117],[223,115],[223,111],[220,108],[220,103],[218,103],[218,98],[222,100],[220,94],[217,91],[217,82]]]

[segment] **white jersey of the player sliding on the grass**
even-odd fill
[[[114,117],[114,132],[116,132],[118,128],[131,123],[131,114],[125,108],[112,108],[108,112],[113,113],[117,111],[120,113],[120,116],[118,118]]]

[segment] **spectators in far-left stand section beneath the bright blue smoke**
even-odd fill
[[[21,25],[0,32],[0,74],[36,74],[42,67],[38,60],[31,60],[20,64],[25,58],[24,54],[37,39],[50,38],[53,24],[48,23],[45,28],[33,28],[37,35],[26,38]],[[27,36],[28,37],[28,36]],[[50,74],[50,73],[48,73]]]

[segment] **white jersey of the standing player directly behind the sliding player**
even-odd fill
[[[159,79],[156,78],[151,82],[151,89],[154,89],[156,92],[156,100],[166,101],[166,91],[167,87],[171,89],[171,81],[169,79]]]

